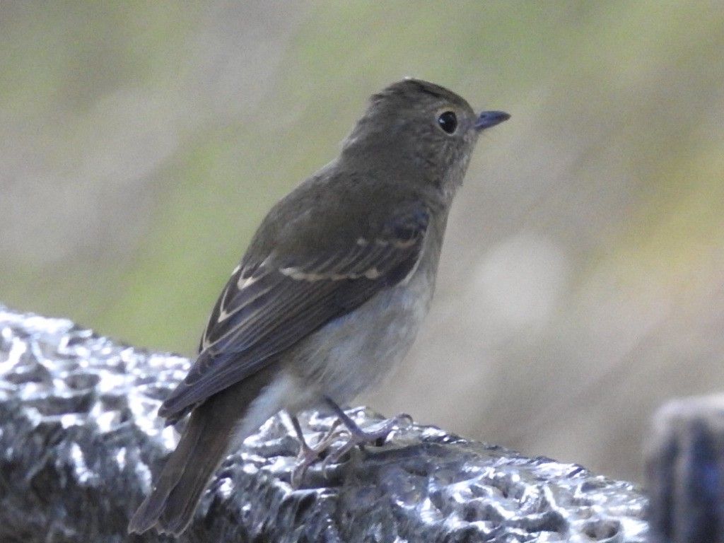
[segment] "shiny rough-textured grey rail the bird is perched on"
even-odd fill
[[[0,306],[0,541],[152,542],[126,524],[169,450],[156,417],[188,360]],[[379,416],[360,408],[367,426]],[[332,418],[305,418],[321,435]],[[230,456],[182,542],[644,542],[646,500],[581,466],[430,426],[399,429],[292,491],[295,440],[270,419]]]

